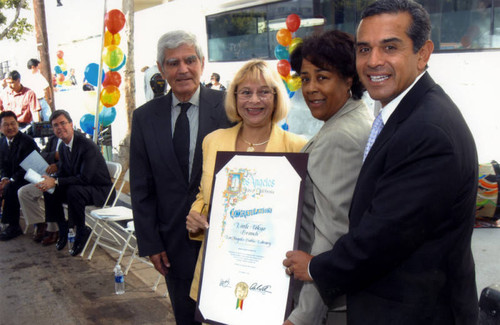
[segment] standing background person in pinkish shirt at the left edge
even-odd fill
[[[16,70],[7,76],[8,88],[0,94],[0,111],[16,113],[19,127],[31,122],[40,122],[40,104],[33,90],[21,84],[21,75]]]

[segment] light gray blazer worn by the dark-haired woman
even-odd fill
[[[372,122],[364,102],[349,99],[302,149],[309,153],[309,161],[299,248],[312,255],[332,249],[347,232],[349,206]],[[341,297],[337,306],[344,304]],[[289,319],[295,325],[322,324],[326,311],[314,283],[304,283]]]

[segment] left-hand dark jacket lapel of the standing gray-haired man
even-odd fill
[[[157,152],[178,178],[179,182],[185,183],[181,167],[175,156],[172,142],[172,90],[167,95],[155,100],[151,108],[153,118],[151,121],[151,139],[156,143]]]

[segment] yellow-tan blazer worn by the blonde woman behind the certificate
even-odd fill
[[[212,190],[212,180],[215,168],[217,151],[236,151],[236,138],[242,123],[229,129],[219,129],[208,134],[203,140],[203,174],[201,176],[200,192],[191,206],[191,210],[201,212],[204,206],[208,207]],[[271,137],[266,147],[266,152],[299,152],[306,144],[303,137],[284,131],[278,125],[273,125]],[[203,240],[204,234],[191,236],[193,240]],[[202,245],[198,255],[198,261],[194,271],[193,283],[191,285],[191,298],[197,300],[198,285],[200,282],[201,262],[204,253]]]

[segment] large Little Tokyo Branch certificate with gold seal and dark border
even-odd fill
[[[282,261],[297,248],[305,153],[219,152],[197,317],[210,324],[279,324],[291,311]]]

